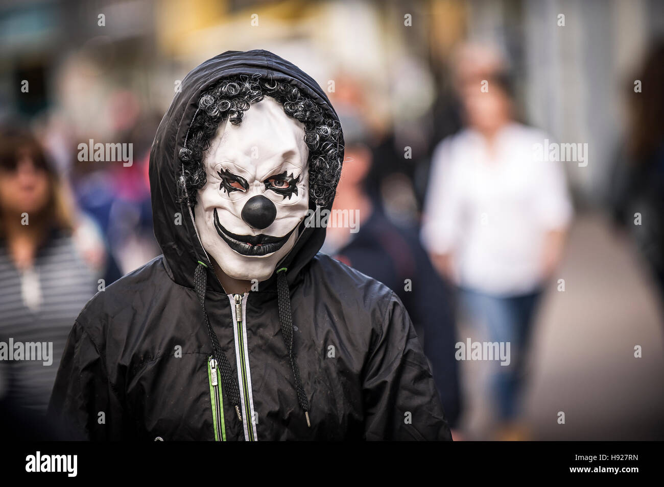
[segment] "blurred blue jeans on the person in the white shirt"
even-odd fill
[[[525,352],[541,290],[507,297],[491,296],[469,289],[461,292],[471,317],[487,328],[489,341],[510,344],[510,364],[491,364],[492,370],[495,370],[491,376],[491,392],[497,402],[497,416],[501,421],[510,421],[520,412],[519,394],[525,375]]]

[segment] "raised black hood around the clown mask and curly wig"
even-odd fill
[[[171,107],[159,124],[150,151],[149,167],[155,237],[164,254],[169,275],[181,286],[193,288],[198,262],[205,262],[208,266],[210,262],[197,238],[186,203],[177,203],[177,180],[181,176],[179,150],[184,145],[201,94],[223,78],[242,74],[260,74],[262,79],[286,81],[307,93],[331,117],[339,120],[318,83],[294,64],[266,50],[226,51],[187,74],[181,83],[181,91],[173,97]],[[343,145],[343,137],[341,142]],[[343,147],[339,154],[343,159]],[[330,201],[326,208],[331,205]],[[295,246],[280,263],[280,266],[288,267],[289,282],[297,278],[299,270],[320,250],[323,241],[324,228],[304,229]],[[273,275],[267,285],[261,286],[262,289],[271,288],[274,280]],[[208,286],[222,291],[216,280],[210,280]]]

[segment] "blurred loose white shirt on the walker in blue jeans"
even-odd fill
[[[495,138],[465,129],[440,142],[432,160],[422,242],[452,253],[457,284],[496,295],[527,294],[543,279],[546,232],[572,219],[566,162],[538,160],[548,135],[511,123]]]

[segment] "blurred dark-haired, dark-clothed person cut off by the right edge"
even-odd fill
[[[629,233],[651,270],[664,304],[664,40],[649,48],[625,85],[626,136],[614,157],[608,203],[614,222]]]

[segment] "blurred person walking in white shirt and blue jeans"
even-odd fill
[[[509,78],[489,47],[456,57],[465,128],[436,148],[422,239],[438,271],[461,288],[491,342],[510,344],[493,371],[499,439],[523,439],[519,393],[542,287],[572,218],[560,162],[535,158],[547,135],[515,121]],[[469,352],[469,351],[467,351]]]

